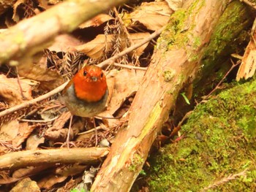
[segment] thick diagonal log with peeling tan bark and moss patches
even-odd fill
[[[227,0],[186,1],[157,43],[154,56],[91,191],[129,191],[179,91],[195,77],[203,48]]]

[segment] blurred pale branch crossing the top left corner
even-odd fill
[[[100,12],[125,1],[69,0],[33,18],[20,21],[0,34],[0,65],[6,61],[18,60],[24,55],[34,55],[48,47],[49,42],[58,34],[69,33]]]

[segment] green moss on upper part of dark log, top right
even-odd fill
[[[219,18],[211,35],[210,44],[203,55],[204,71],[209,72],[209,68],[214,66],[213,62],[224,55],[236,52],[236,47],[239,46],[236,38],[239,34],[244,34],[244,38],[248,37],[243,31],[251,24],[252,16],[247,7],[240,1],[232,1]]]

